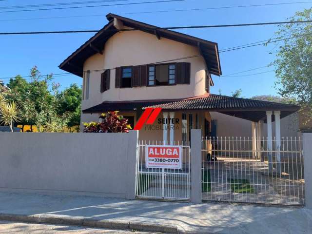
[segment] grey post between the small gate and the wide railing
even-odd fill
[[[191,202],[201,203],[201,130],[191,130]]]

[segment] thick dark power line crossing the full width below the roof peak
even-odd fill
[[[178,26],[178,27],[150,27],[150,28],[126,28],[126,29],[107,29],[105,32],[120,31],[137,31],[137,30],[160,30],[160,29],[195,29],[195,28],[221,28],[221,27],[242,27],[242,26],[259,26],[287,23],[311,23],[312,20],[299,21],[280,21],[280,22],[263,22],[263,23],[242,23],[242,24],[220,24],[220,25],[199,25],[199,26]],[[0,33],[0,35],[27,35],[27,34],[61,34],[61,33],[98,33],[101,30],[72,30],[72,31],[41,31],[41,32],[9,32]]]

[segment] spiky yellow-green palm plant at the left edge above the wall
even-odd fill
[[[13,132],[13,123],[20,119],[20,117],[18,117],[19,108],[16,102],[12,101],[7,103],[6,100],[3,101],[3,98],[2,100],[0,98],[0,113],[0,122],[4,125],[9,125],[11,132]]]

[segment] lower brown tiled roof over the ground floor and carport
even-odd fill
[[[97,106],[83,110],[83,113],[102,113],[105,111],[136,111],[147,107],[161,107],[163,110],[191,111],[207,110],[244,118],[251,121],[266,120],[266,111],[280,111],[281,118],[300,109],[299,106],[247,98],[233,98],[210,94],[208,96],[186,98],[180,100],[137,100],[103,102]],[[274,121],[274,117],[273,117]]]

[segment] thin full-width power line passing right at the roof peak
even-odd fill
[[[275,6],[275,5],[302,4],[302,3],[312,3],[312,1],[281,2],[281,3],[272,3],[272,4],[241,5],[241,6],[225,6],[225,7],[209,7],[209,8],[174,9],[174,10],[163,10],[163,11],[128,12],[128,13],[117,13],[117,15],[151,14],[151,13],[184,12],[184,11],[201,11],[201,10],[218,10],[218,9],[228,9],[228,8],[259,7],[259,6]],[[17,21],[17,20],[44,20],[44,19],[64,19],[64,18],[83,18],[83,17],[97,17],[97,16],[106,16],[106,15],[104,15],[104,14],[98,14],[98,15],[84,15],[84,16],[40,17],[40,18],[23,18],[23,19],[0,20],[0,21]]]

